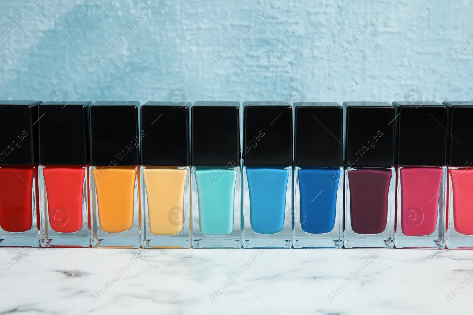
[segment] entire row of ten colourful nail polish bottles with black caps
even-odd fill
[[[1,103],[0,246],[473,247],[471,102],[139,105]]]

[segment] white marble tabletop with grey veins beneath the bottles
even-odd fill
[[[4,248],[0,268],[0,314],[472,312],[468,250]]]

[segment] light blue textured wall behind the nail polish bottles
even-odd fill
[[[93,102],[164,101],[175,88],[190,102],[285,100],[292,88],[311,101],[392,102],[411,88],[473,99],[472,1],[36,1],[0,1],[0,99],[57,88]]]

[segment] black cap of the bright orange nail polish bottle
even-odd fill
[[[95,102],[89,108],[90,164],[140,165],[140,102]]]

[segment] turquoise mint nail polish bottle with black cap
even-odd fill
[[[191,107],[194,248],[241,247],[240,103]]]

